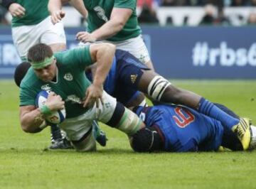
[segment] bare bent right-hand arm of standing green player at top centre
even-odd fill
[[[122,31],[122,28],[124,28],[125,23],[127,23],[127,20],[131,15],[132,9],[114,8],[112,9],[110,20],[100,28],[92,33],[80,31],[77,33],[76,37],[82,42],[93,42],[110,38],[116,35],[119,31]]]

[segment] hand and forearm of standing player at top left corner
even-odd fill
[[[26,9],[20,4],[17,4],[14,0],[3,0],[1,1],[1,6],[4,6],[10,11],[11,16],[21,17],[25,15]]]

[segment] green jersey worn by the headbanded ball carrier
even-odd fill
[[[21,82],[20,106],[36,106],[38,92],[50,90],[65,101],[66,118],[78,117],[87,111],[80,103],[91,84],[85,76],[85,67],[92,64],[89,47],[55,53],[54,56],[58,67],[56,82],[39,80],[33,68],[29,68]]]

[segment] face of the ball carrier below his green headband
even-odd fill
[[[41,69],[34,69],[37,77],[44,82],[50,82],[56,76],[56,60],[53,59],[53,63],[47,65]]]

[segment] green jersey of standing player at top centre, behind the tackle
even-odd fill
[[[112,9],[125,8],[132,9],[132,15],[124,25],[122,31],[119,31],[115,36],[108,38],[108,41],[125,41],[129,38],[135,38],[142,33],[139,27],[136,13],[136,0],[83,0],[88,15],[88,32],[95,31],[104,23],[110,20]]]

